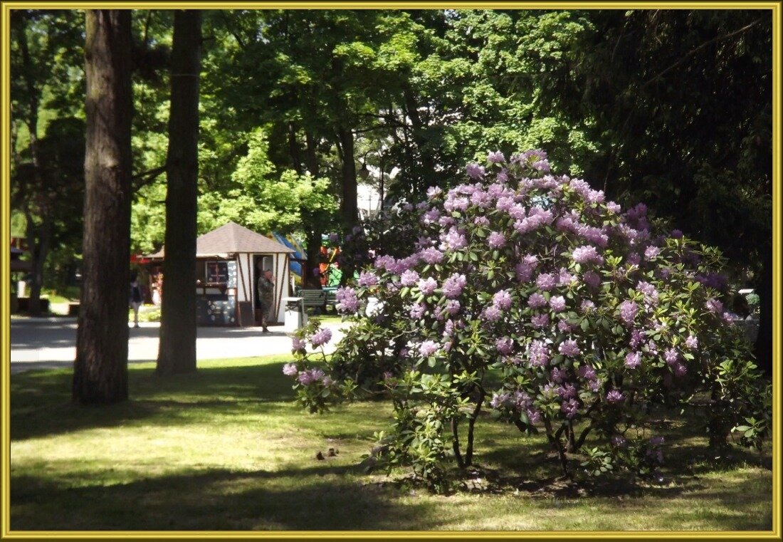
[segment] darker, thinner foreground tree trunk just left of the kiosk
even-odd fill
[[[176,10],[166,174],[166,255],[157,374],[196,370],[196,211],[201,12]]]

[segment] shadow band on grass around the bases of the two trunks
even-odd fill
[[[177,425],[252,408],[259,413],[294,399],[283,363],[208,367],[195,374],[157,377],[153,369],[129,372],[123,403],[83,406],[71,401],[70,370],[31,371],[11,382],[11,439],[60,435],[88,428],[140,423]]]

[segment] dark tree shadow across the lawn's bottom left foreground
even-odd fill
[[[209,470],[113,486],[11,479],[13,530],[435,529],[424,505],[345,479],[351,468]],[[78,511],[78,513],[74,513]]]

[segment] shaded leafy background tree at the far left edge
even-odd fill
[[[41,287],[49,252],[52,248],[69,251],[75,243],[63,232],[78,229],[80,219],[67,213],[66,202],[69,196],[78,197],[81,186],[70,184],[74,181],[69,175],[72,168],[66,166],[62,172],[57,171],[60,159],[70,157],[67,153],[50,154],[56,136],[49,139],[47,148],[43,148],[41,136],[48,131],[52,119],[79,114],[76,103],[84,101],[84,74],[79,67],[83,62],[83,41],[81,16],[76,11],[11,11],[11,208],[25,219],[32,262],[28,305],[32,315],[41,311]],[[52,134],[60,128],[52,129]],[[76,136],[76,141],[83,140],[83,135]],[[83,156],[83,150],[71,157],[80,154]],[[58,175],[63,179],[58,179]],[[73,223],[63,223],[69,221]]]

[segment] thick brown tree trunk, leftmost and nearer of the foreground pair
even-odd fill
[[[73,399],[128,399],[131,12],[86,10],[85,231]]]

